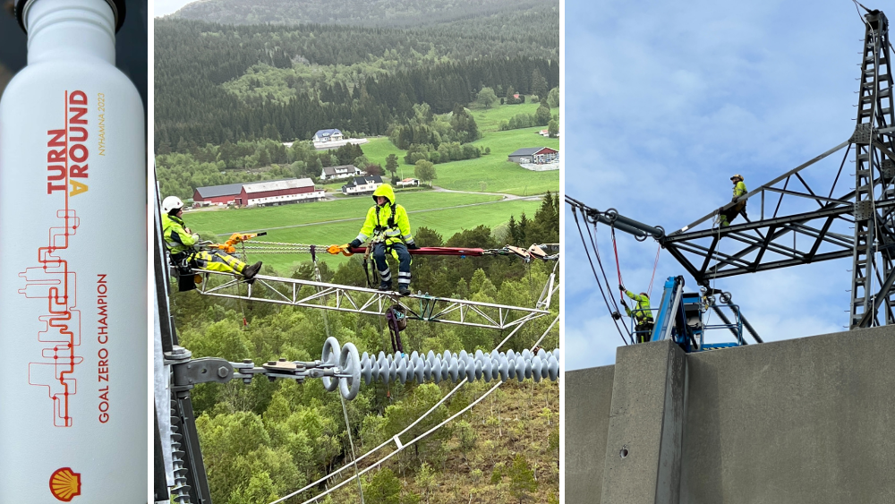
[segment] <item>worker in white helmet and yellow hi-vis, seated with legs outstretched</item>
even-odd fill
[[[171,261],[177,266],[188,265],[190,269],[209,269],[224,273],[238,273],[251,282],[261,261],[246,266],[231,255],[220,251],[197,251],[193,247],[199,242],[199,235],[192,233],[183,223],[183,201],[176,196],[168,196],[162,201],[162,237],[171,252]]]

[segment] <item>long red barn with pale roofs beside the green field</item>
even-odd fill
[[[200,205],[240,206],[292,203],[295,201],[316,201],[326,193],[317,190],[310,178],[287,178],[245,184],[214,185],[197,188],[192,200]]]

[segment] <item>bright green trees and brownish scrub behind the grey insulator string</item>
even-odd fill
[[[514,203],[479,208],[506,209]],[[545,199],[529,221],[527,231],[536,241],[558,235],[557,206],[558,197]],[[430,213],[435,212],[416,215]],[[482,213],[476,211],[475,216],[481,219]],[[468,218],[460,216],[457,220]],[[487,226],[466,229],[447,241],[425,227],[416,228],[415,235],[423,245],[499,245]],[[320,274],[324,281],[360,285],[363,273],[358,262],[355,257],[338,268],[323,263]],[[508,257],[419,257],[413,261],[413,287],[450,297],[530,306],[541,293],[551,268],[552,264],[524,264]],[[293,274],[295,278],[314,276],[308,262]],[[353,342],[361,352],[390,351],[388,331],[379,317],[326,312],[324,319],[320,310],[246,303],[196,292],[175,294],[172,314],[181,345],[195,357],[251,359],[255,363],[277,357],[307,361],[320,355],[323,341],[330,335]],[[533,346],[557,315],[555,296],[550,315],[529,322],[502,349]],[[422,353],[446,349],[490,351],[502,337],[499,331],[415,320],[402,333],[405,349]],[[558,346],[558,326],[550,330],[541,346]],[[492,385],[479,381],[465,385],[401,439],[406,442],[430,430]],[[192,399],[212,499],[221,504],[266,504],[298,490],[350,463],[349,431],[360,456],[403,431],[451,388],[449,383],[402,385],[394,381],[363,386],[360,394],[346,404],[346,425],[339,397],[326,392],[320,380],[297,384],[292,380],[257,379],[248,386],[239,381],[198,385],[192,390]],[[507,382],[455,422],[362,477],[364,497],[370,502],[396,504],[506,502],[507,495],[548,500],[558,488],[558,406],[558,383]],[[385,453],[378,457],[382,455]],[[522,463],[518,462],[520,458]],[[369,462],[361,463],[360,468],[366,464]],[[306,491],[296,500],[309,499],[331,484]],[[358,500],[357,486],[352,483],[331,494],[327,501]]]

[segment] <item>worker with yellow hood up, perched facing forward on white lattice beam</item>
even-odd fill
[[[359,247],[367,238],[372,237],[370,246],[376,269],[379,270],[379,290],[392,290],[391,270],[386,262],[386,253],[390,253],[398,261],[397,292],[409,295],[411,258],[407,250],[420,247],[413,243],[407,210],[395,202],[395,191],[388,184],[376,188],[373,201],[376,204],[367,210],[367,219],[363,222],[361,232],[346,246]]]

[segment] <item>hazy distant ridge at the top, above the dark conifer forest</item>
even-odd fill
[[[348,0],[328,3],[315,0],[204,0],[186,4],[175,17],[228,24],[348,24],[368,27],[413,28],[457,20],[482,20],[499,16],[517,21],[522,13],[558,9],[557,1],[523,0]],[[516,14],[516,16],[514,16]]]

